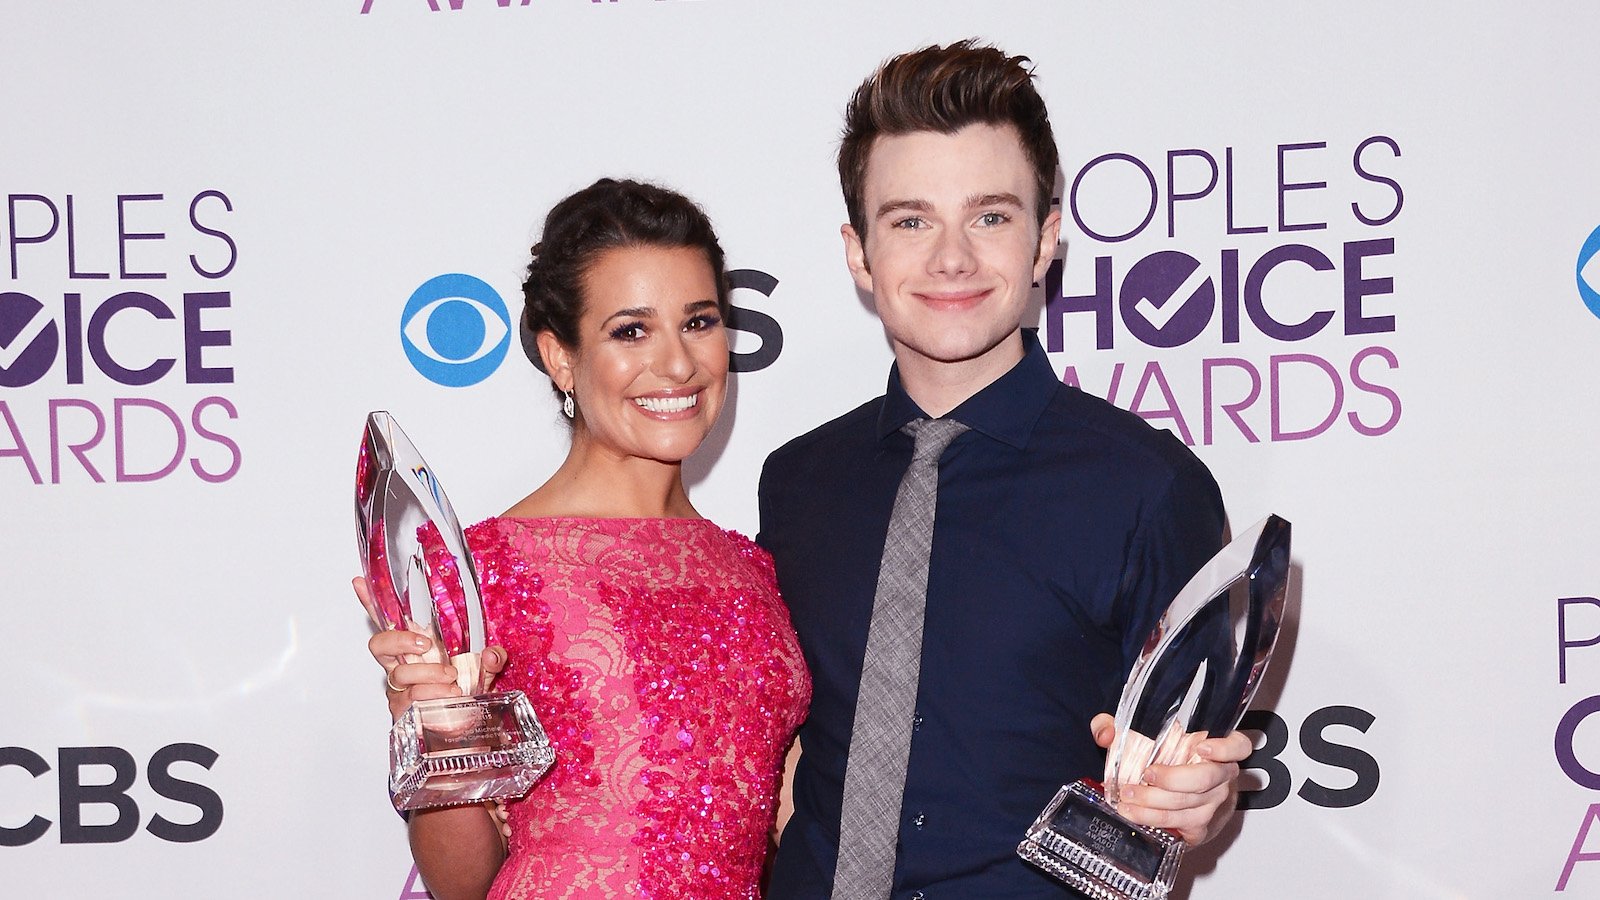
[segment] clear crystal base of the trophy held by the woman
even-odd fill
[[[419,700],[389,732],[395,809],[520,798],[555,762],[520,690]]]

